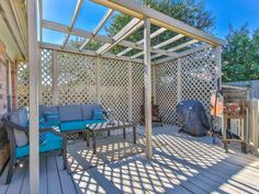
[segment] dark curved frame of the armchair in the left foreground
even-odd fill
[[[4,128],[8,132],[8,137],[9,137],[9,141],[10,141],[10,159],[9,159],[9,167],[8,167],[8,173],[7,173],[7,179],[5,179],[5,184],[9,184],[11,182],[11,178],[13,174],[13,169],[14,166],[16,164],[16,161],[21,161],[21,160],[27,160],[29,157],[21,157],[19,159],[15,158],[15,147],[16,147],[16,140],[14,137],[14,132],[13,129],[15,128],[16,130],[21,130],[21,132],[29,132],[29,127],[22,127],[16,125],[15,123],[11,122],[8,119],[8,116],[10,115],[10,113],[7,113],[5,115],[3,115],[3,117],[1,118],[1,121],[3,122]],[[63,155],[63,167],[64,170],[68,169],[68,163],[67,163],[67,139],[66,136],[57,130],[55,130],[54,128],[42,128],[41,133],[46,133],[46,132],[50,132],[59,137],[63,138],[63,147],[60,150],[52,150],[52,151],[47,151],[47,152],[42,152],[41,155],[52,155],[52,153],[57,153],[60,152]],[[32,145],[32,144],[31,144]],[[31,147],[31,146],[30,146]]]

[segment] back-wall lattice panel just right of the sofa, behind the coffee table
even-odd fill
[[[100,59],[101,104],[115,112],[116,119],[128,118],[128,62]]]

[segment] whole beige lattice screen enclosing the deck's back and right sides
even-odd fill
[[[98,59],[63,52],[56,52],[54,55],[54,53],[48,49],[42,50],[41,89],[44,104],[53,104],[55,92],[58,104],[97,102],[100,96],[102,105],[105,109],[113,109],[117,119],[128,119],[131,102],[128,92],[132,91],[133,121],[139,122],[140,105],[144,104],[143,64],[132,62],[132,90],[130,90],[128,61]],[[210,110],[211,90],[215,87],[214,50],[207,49],[183,57],[181,68],[182,84],[181,91],[178,91],[177,60],[153,67],[153,83],[156,82],[153,84],[153,95],[157,99],[160,114],[166,123],[176,123],[178,92],[182,100],[200,100],[206,110]],[[57,69],[56,76],[54,69]],[[156,93],[154,93],[155,88]],[[29,105],[29,67],[25,62],[18,65],[18,103],[19,106]]]

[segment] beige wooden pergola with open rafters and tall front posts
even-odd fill
[[[144,64],[144,77],[145,77],[145,133],[146,133],[146,156],[153,157],[151,147],[151,67],[161,62],[168,62],[181,57],[198,53],[204,49],[215,49],[215,76],[221,78],[221,47],[224,42],[216,38],[205,32],[194,28],[188,24],[184,24],[178,20],[174,20],[164,13],[153,10],[146,5],[139,4],[135,1],[128,0],[92,0],[95,3],[104,5],[108,9],[106,14],[99,22],[93,32],[86,30],[75,28],[75,23],[78,18],[80,8],[83,0],[78,0],[75,8],[75,12],[70,22],[70,25],[64,25],[47,21],[43,19],[42,0],[27,1],[27,15],[29,15],[29,67],[30,67],[30,191],[31,193],[38,193],[40,184],[40,153],[38,153],[38,132],[35,130],[38,125],[38,76],[40,75],[40,48],[54,49],[59,52],[68,52],[74,54],[80,54],[86,56],[111,58],[115,60],[139,62]],[[40,24],[37,24],[37,8],[40,8]],[[132,16],[133,19],[126,24],[117,34],[113,37],[100,35],[99,32],[112,15],[114,11],[120,11],[124,14]],[[40,42],[37,41],[37,26],[40,25]],[[159,28],[155,32],[150,32],[150,25],[156,25]],[[144,26],[144,38],[134,43],[127,41],[127,37]],[[57,31],[67,34],[63,44],[49,44],[43,41],[43,28]],[[161,42],[157,45],[151,45],[150,39],[166,31],[171,31],[178,35],[170,37],[169,39]],[[67,46],[69,37],[76,35],[86,38],[83,44],[79,48]],[[177,43],[177,41],[189,37],[190,41],[181,43],[171,48],[162,49],[162,47]],[[91,42],[103,43],[97,50],[85,49]],[[117,54],[109,53],[114,46],[123,46],[124,49]],[[188,48],[188,49],[187,49]],[[128,56],[131,50],[137,49],[138,53]],[[183,50],[184,49],[184,50]],[[179,52],[181,50],[181,52]],[[177,60],[180,68],[181,60]],[[181,80],[177,80],[181,81]]]

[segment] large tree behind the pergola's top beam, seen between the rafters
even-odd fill
[[[138,0],[138,2],[205,32],[212,33],[214,30],[214,18],[210,11],[204,10],[202,0]],[[113,36],[131,20],[131,16],[119,13],[112,18],[111,24],[105,30],[110,36]],[[151,25],[151,32],[155,32],[158,28],[158,26]],[[151,45],[161,43],[174,35],[176,33],[167,31],[162,33],[162,35],[153,38]],[[140,28],[127,37],[127,39],[137,42],[143,37],[143,28]],[[177,43],[165,46],[164,48],[167,49],[188,39],[189,38],[184,37]],[[119,53],[122,49],[122,47],[116,46],[112,53]],[[132,53],[128,53],[128,55],[133,55],[138,50],[133,50]]]

